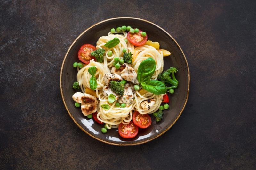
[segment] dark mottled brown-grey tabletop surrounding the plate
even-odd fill
[[[1,1],[0,169],[255,169],[256,1]],[[68,47],[107,18],[169,32],[190,68],[187,106],[146,144],[97,141],[60,95]]]

